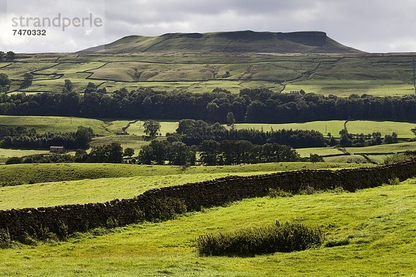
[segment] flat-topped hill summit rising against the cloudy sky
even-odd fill
[[[271,33],[242,30],[220,33],[131,35],[79,53],[362,53],[324,32]]]

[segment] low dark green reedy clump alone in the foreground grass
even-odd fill
[[[232,233],[200,235],[196,247],[205,256],[252,256],[275,252],[302,251],[322,244],[320,229],[302,224],[279,224]]]

